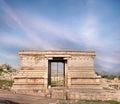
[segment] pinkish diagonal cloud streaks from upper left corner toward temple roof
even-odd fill
[[[46,38],[51,36],[57,36],[58,38],[66,39],[73,43],[79,44],[79,39],[74,37],[68,28],[59,26],[55,22],[51,22],[41,16],[29,15],[30,20],[25,19],[24,23],[21,20],[22,16],[17,16],[16,12],[4,2],[5,10],[8,12],[9,16],[25,31],[28,40],[34,42],[34,46],[40,47],[41,49],[59,49],[53,43],[48,43],[46,39],[40,36],[40,33],[47,33]],[[21,18],[20,18],[21,17]],[[26,17],[26,16],[25,16]]]

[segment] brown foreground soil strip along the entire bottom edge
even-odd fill
[[[57,100],[39,96],[16,94],[11,91],[0,90],[0,104],[120,104],[120,102]]]

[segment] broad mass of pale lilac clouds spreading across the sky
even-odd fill
[[[95,1],[88,0],[87,6],[93,5]],[[41,14],[33,15],[25,11],[23,13],[21,10],[14,9],[6,1],[2,0],[0,3],[2,3],[0,5],[2,5],[8,16],[8,18],[3,19],[3,22],[8,27],[15,27],[11,31],[16,31],[16,33],[22,31],[23,33],[23,36],[20,36],[20,33],[4,31],[0,37],[2,45],[8,45],[11,48],[16,46],[19,49],[62,49],[62,47],[68,49],[68,46],[71,47],[70,49],[75,49],[69,43],[64,44],[64,42],[68,41],[77,45],[77,49],[81,49],[81,46],[83,46],[86,50],[95,50],[97,64],[103,69],[112,69],[120,64],[118,58],[120,55],[113,54],[116,52],[115,38],[102,36],[103,34],[99,31],[101,21],[91,10],[88,10],[88,15],[84,17],[82,24],[80,23],[79,29],[74,34],[67,25],[59,24],[57,21],[50,20]],[[19,31],[16,30],[16,26],[20,28]],[[117,54],[119,54],[119,49]],[[16,57],[18,58],[17,55],[3,52],[1,49],[0,57],[13,60]]]

